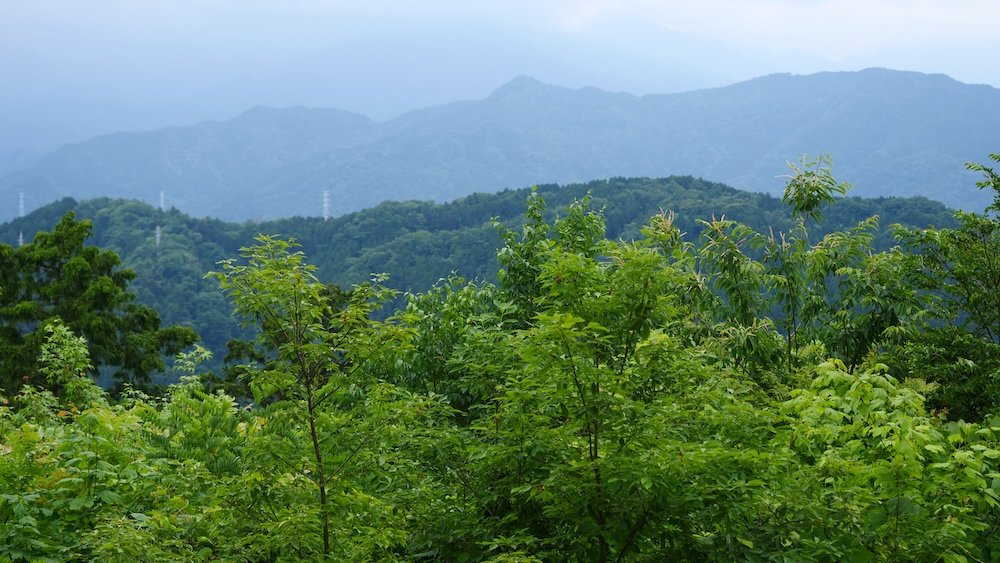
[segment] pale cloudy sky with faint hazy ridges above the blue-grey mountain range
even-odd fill
[[[997,22],[996,0],[0,0],[0,172],[109,130],[259,104],[388,119],[520,74],[637,95],[872,66],[1000,87]]]

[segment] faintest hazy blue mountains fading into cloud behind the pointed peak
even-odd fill
[[[0,88],[0,174],[30,164],[23,158],[27,153],[114,132],[230,119],[260,105],[336,107],[384,120],[485,97],[516,74],[646,94],[830,64],[797,60],[790,53],[780,53],[780,63],[768,63],[752,50],[633,18],[616,18],[586,35],[539,33],[502,22],[383,21],[373,28],[371,21],[341,19],[337,27],[340,33],[327,27],[305,42],[300,30],[296,41],[270,47],[239,47],[226,39],[225,30],[216,30],[213,56],[203,52],[208,45],[183,41],[169,52],[175,64],[183,61],[172,71],[153,64],[153,53],[126,67],[82,65],[82,59],[59,56],[42,72],[36,58],[4,58],[13,53],[0,52],[5,84],[11,86]],[[268,35],[276,40],[273,32]],[[226,59],[229,64],[220,64]]]

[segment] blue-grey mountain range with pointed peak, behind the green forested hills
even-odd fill
[[[519,77],[489,97],[375,122],[258,107],[222,122],[65,145],[0,178],[0,220],[64,196],[132,197],[228,220],[533,183],[684,174],[779,193],[786,163],[829,153],[859,196],[979,210],[963,163],[1000,151],[1000,90],[884,69],[770,75],[680,94],[571,90]]]

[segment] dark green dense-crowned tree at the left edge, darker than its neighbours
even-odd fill
[[[42,327],[59,320],[86,339],[96,370],[120,382],[149,382],[174,354],[197,339],[190,328],[160,326],[152,309],[135,302],[131,270],[118,255],[85,246],[89,221],[67,213],[51,233],[20,248],[0,245],[0,387],[13,393],[38,374]]]

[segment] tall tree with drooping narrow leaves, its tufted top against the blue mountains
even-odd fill
[[[912,275],[913,257],[873,248],[877,216],[812,242],[809,221],[818,225],[823,207],[849,185],[833,178],[827,156],[792,170],[784,197],[789,231],[765,235],[729,219],[703,221],[694,254],[721,355],[768,387],[785,381],[802,349],[818,342],[854,369],[916,330],[930,304]]]

